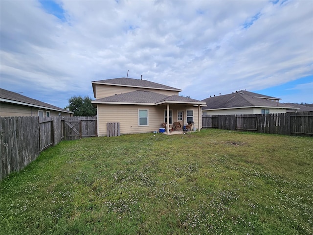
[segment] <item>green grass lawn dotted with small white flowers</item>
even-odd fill
[[[63,141],[0,185],[0,234],[313,234],[313,138]]]

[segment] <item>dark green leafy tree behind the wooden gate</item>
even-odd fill
[[[89,96],[84,98],[81,95],[74,95],[68,99],[68,105],[65,109],[74,112],[74,116],[90,117],[97,114],[97,110],[91,104],[92,99]]]

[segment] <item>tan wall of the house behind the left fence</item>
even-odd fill
[[[38,108],[28,107],[23,105],[0,103],[0,117],[38,117]],[[44,117],[46,111],[50,111],[50,117],[58,117],[59,112],[54,110],[44,110]],[[62,117],[70,117],[70,114],[60,112]]]

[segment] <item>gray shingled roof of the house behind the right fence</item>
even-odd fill
[[[263,97],[263,98],[260,98]],[[265,96],[246,91],[239,91],[233,94],[225,94],[203,99],[206,102],[206,107],[202,110],[212,109],[230,109],[241,107],[264,107],[264,108],[296,108],[292,105],[279,103],[268,99],[278,99],[275,97]]]

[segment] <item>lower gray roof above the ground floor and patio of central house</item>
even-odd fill
[[[138,104],[160,104],[160,103],[190,103],[204,104],[204,102],[179,95],[165,95],[149,91],[134,91],[124,94],[116,94],[105,98],[93,100],[92,103],[138,103]]]

